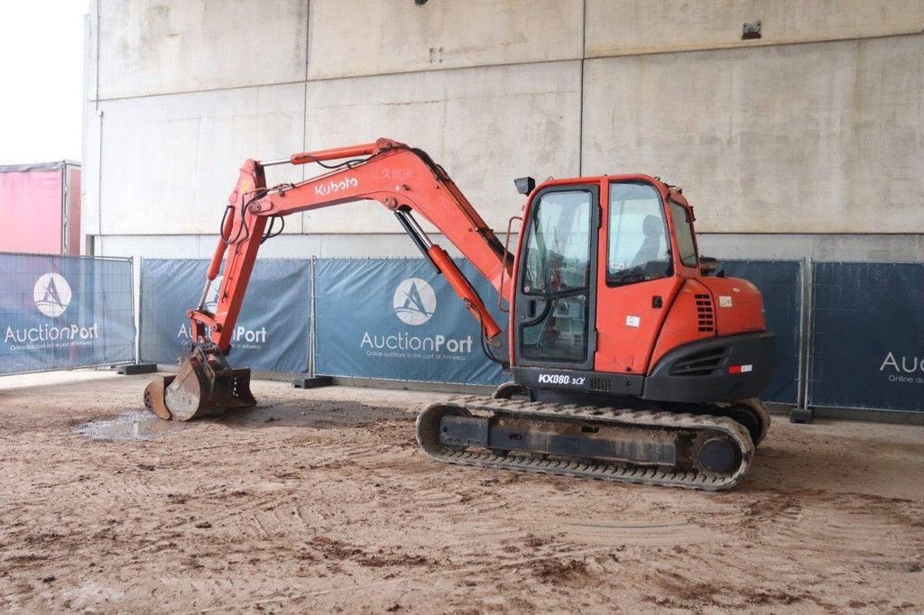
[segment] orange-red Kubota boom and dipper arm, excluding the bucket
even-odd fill
[[[341,161],[338,164],[325,164]],[[266,187],[264,168],[272,164],[321,163],[329,172],[298,184]],[[394,211],[423,255],[445,276],[488,340],[502,331],[468,279],[446,251],[433,244],[414,214],[432,223],[471,261],[498,293],[510,276],[512,258],[468,199],[425,152],[390,139],[333,150],[306,151],[282,161],[249,160],[241,167],[228,198],[222,236],[215,248],[199,306],[188,311],[196,342],[211,341],[222,353],[231,347],[257,251],[276,219],[357,200],[377,200]],[[205,297],[226,259],[214,313]],[[506,298],[506,297],[505,297]]]

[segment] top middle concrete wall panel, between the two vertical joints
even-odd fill
[[[309,78],[572,60],[581,0],[311,0]]]

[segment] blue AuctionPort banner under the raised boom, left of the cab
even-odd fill
[[[505,323],[491,285],[467,261],[459,266],[494,319]],[[426,260],[318,260],[315,288],[319,374],[487,385],[509,380],[481,351],[478,322]]]

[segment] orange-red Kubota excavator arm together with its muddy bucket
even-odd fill
[[[318,163],[327,171],[297,184],[266,186],[266,167],[307,163]],[[145,390],[144,403],[152,413],[189,420],[256,403],[249,392],[250,370],[231,368],[225,356],[231,351],[232,332],[261,244],[282,232],[282,219],[287,215],[358,200],[377,200],[395,213],[423,255],[478,320],[488,343],[503,352],[501,327],[453,259],[430,240],[414,214],[439,229],[508,300],[504,279],[512,273],[513,258],[449,175],[424,151],[378,139],[333,150],[305,151],[265,163],[249,160],[241,167],[228,197],[199,305],[187,312],[192,344],[185,360],[176,377],[154,380]],[[206,297],[223,262],[217,306],[210,311],[205,308]]]

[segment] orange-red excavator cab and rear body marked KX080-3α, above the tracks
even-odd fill
[[[701,271],[693,222],[682,192],[648,175],[535,188],[514,268],[517,384],[539,400],[651,407],[760,394],[773,348],[760,292]]]

